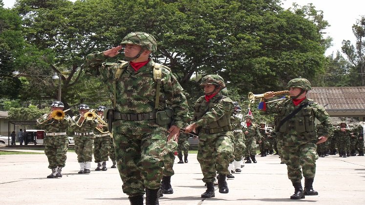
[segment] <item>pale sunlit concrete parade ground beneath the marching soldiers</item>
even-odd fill
[[[0,150],[24,151],[4,145]],[[277,155],[257,155],[257,161],[246,164],[240,174],[234,174],[235,179],[228,180],[228,194],[219,193],[215,186],[215,198],[202,199],[200,194],[206,188],[196,154],[189,155],[188,164],[177,164],[176,157],[171,178],[174,193],[160,198],[160,205],[365,204],[365,157],[320,158],[313,184],[319,195],[301,200],[289,199],[294,187]],[[110,165],[108,161],[107,167]],[[63,178],[47,179],[47,166],[44,154],[0,155],[0,205],[129,205],[116,168],[94,171],[96,164],[92,163],[91,174],[78,174],[74,152],[67,153]]]

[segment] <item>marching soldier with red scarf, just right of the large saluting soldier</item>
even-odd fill
[[[199,148],[197,159],[203,172],[203,182],[207,190],[202,198],[215,197],[214,181],[218,172],[219,193],[228,193],[226,176],[231,174],[228,165],[233,162],[233,127],[231,115],[233,101],[223,96],[221,90],[226,87],[219,75],[207,75],[201,79],[205,95],[194,105],[195,122],[185,128],[185,133],[197,129]]]

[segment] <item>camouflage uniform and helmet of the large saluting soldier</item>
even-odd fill
[[[137,44],[143,49],[155,52],[155,39],[142,32],[132,32],[121,44]],[[89,72],[107,82],[111,100],[116,102],[118,114],[113,122],[115,155],[120,177],[123,181],[123,192],[140,199],[148,191],[149,196],[157,195],[163,177],[164,156],[167,153],[166,135],[168,124],[156,123],[156,112],[167,109],[166,100],[172,102],[174,125],[184,127],[187,121],[188,105],[183,88],[173,76],[170,68],[161,65],[161,85],[158,108],[155,108],[156,85],[153,78],[155,62],[149,62],[137,72],[127,62],[105,62],[109,57],[103,52],[89,54],[86,61]],[[114,94],[113,79],[117,69],[125,65],[124,72],[116,83]],[[116,116],[116,115],[115,115]],[[133,199],[131,199],[133,198]],[[142,197],[143,201],[143,197]]]

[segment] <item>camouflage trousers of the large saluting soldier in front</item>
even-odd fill
[[[114,132],[113,137],[123,192],[133,197],[144,195],[145,188],[159,188],[167,153],[166,133],[125,135]]]

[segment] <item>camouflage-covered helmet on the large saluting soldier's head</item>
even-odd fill
[[[156,39],[145,32],[131,32],[123,38],[121,45],[135,44],[142,46],[142,49],[149,50],[151,52],[157,51]]]

